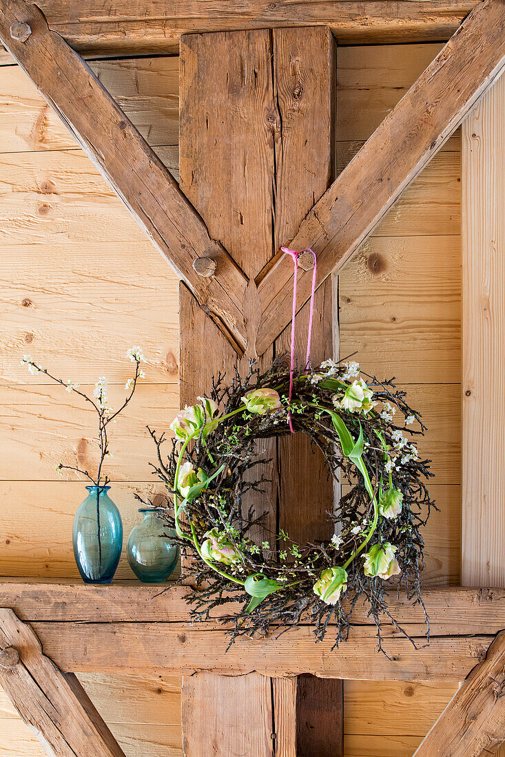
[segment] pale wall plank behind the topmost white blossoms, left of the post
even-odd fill
[[[121,211],[128,221],[127,210]],[[81,228],[85,236],[86,226]],[[48,381],[41,374],[28,378],[20,356],[29,352],[64,380],[93,384],[105,375],[124,385],[132,344],[146,355],[146,382],[176,384],[179,282],[140,229],[134,232],[122,242],[0,242],[3,384]]]

